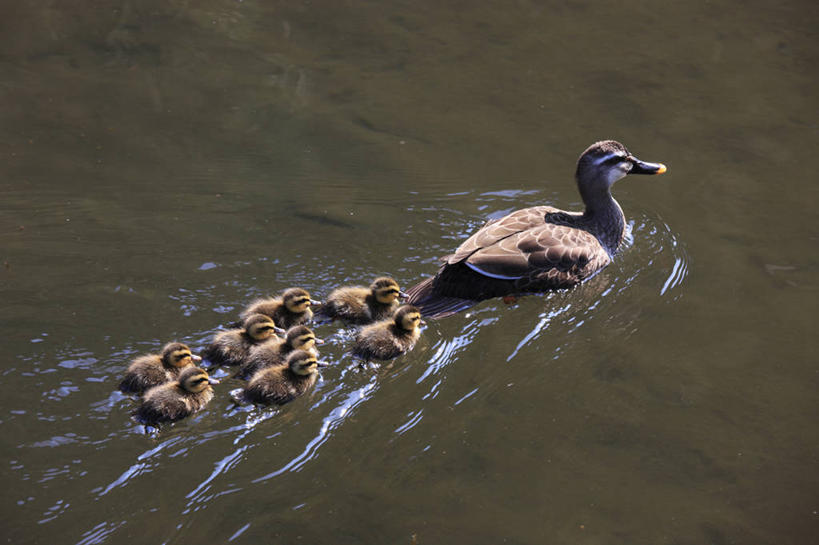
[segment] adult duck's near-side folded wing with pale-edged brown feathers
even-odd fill
[[[544,223],[512,233],[492,245],[473,252],[464,264],[474,271],[501,280],[555,277],[558,284],[576,283],[597,270],[607,259],[598,240],[590,233],[566,225]],[[594,263],[592,263],[594,261]],[[555,286],[558,287],[558,286]]]

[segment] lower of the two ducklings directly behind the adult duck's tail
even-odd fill
[[[412,305],[398,307],[392,318],[359,331],[352,353],[363,360],[391,360],[412,350],[421,335],[420,311]]]

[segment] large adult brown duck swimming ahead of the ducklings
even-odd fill
[[[443,317],[504,295],[570,288],[611,262],[623,241],[625,216],[611,186],[626,174],[662,174],[613,140],[591,145],[577,163],[583,212],[535,206],[488,222],[438,273],[410,288],[409,303]]]

